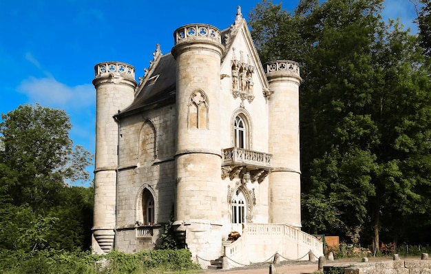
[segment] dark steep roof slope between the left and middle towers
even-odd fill
[[[156,77],[156,81],[151,81]],[[166,101],[175,100],[176,90],[176,60],[171,53],[160,56],[154,71],[147,78],[147,82],[140,90],[138,96],[134,99],[132,105],[120,112],[117,116],[128,116],[146,109],[151,105],[158,105]]]

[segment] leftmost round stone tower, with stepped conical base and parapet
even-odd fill
[[[94,226],[92,248],[106,253],[114,244],[118,124],[115,114],[134,100],[135,70],[117,62],[94,67],[96,87],[96,155],[94,160]]]

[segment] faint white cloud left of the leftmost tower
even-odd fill
[[[62,109],[81,109],[94,105],[96,92],[92,84],[70,87],[52,76],[29,77],[21,82],[18,91],[27,95],[30,103],[40,103]]]

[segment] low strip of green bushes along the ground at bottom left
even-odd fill
[[[95,255],[90,251],[1,251],[0,273],[116,274],[158,273],[200,269],[186,249],[142,251],[126,254],[112,251]]]

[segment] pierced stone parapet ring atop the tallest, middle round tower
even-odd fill
[[[194,40],[222,43],[220,30],[212,25],[183,25],[174,32],[174,45]]]

